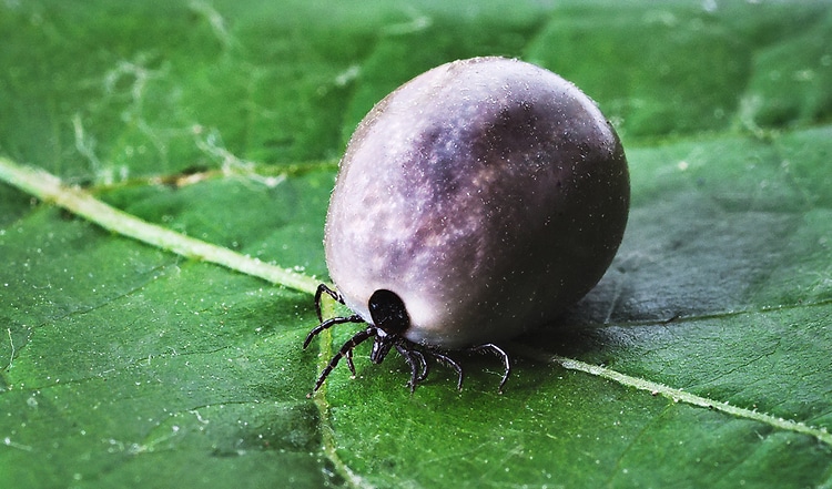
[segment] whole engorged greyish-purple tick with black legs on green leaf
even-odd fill
[[[534,64],[475,58],[437,67],[365,116],[341,161],[325,228],[326,293],[366,323],[338,359],[374,338],[396,349],[410,387],[425,357],[551,322],[601,278],[629,208],[621,144],[595,103]],[[318,306],[319,310],[319,306]],[[415,352],[415,353],[414,353]],[[500,385],[501,386],[501,385]]]

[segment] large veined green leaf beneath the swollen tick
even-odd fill
[[[832,3],[9,1],[0,35],[0,487],[832,487]],[[338,155],[486,54],[616,124],[616,261],[503,395],[363,346],[308,397],[354,333],[302,349]]]

